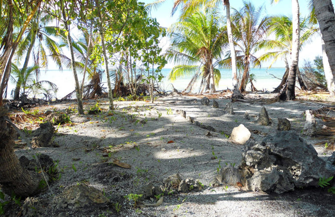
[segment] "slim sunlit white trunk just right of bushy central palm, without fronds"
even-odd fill
[[[228,33],[228,42],[230,48],[230,56],[231,56],[231,70],[233,77],[233,88],[237,89],[237,67],[236,67],[236,51],[233,41],[233,33],[231,30],[231,20],[230,20],[230,4],[229,0],[225,1],[226,5],[226,19],[227,19],[227,33]]]

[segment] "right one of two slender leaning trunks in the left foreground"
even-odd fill
[[[108,87],[108,99],[109,99],[109,109],[114,109],[114,102],[113,102],[113,91],[112,91],[112,85],[111,85],[111,78],[109,76],[109,69],[108,69],[108,59],[107,59],[107,52],[106,52],[106,45],[105,45],[105,34],[104,34],[104,28],[102,27],[102,16],[100,11],[100,2],[96,0],[96,5],[98,7],[98,15],[99,15],[99,29],[100,29],[100,37],[101,37],[101,46],[102,46],[102,52],[104,55],[104,63],[105,63],[105,71],[107,76],[107,87]]]

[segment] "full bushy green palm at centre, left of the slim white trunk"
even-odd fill
[[[185,20],[172,24],[169,31],[172,43],[166,57],[179,64],[172,68],[169,78],[174,80],[182,75],[195,74],[190,82],[192,84],[201,73],[201,92],[202,87],[214,92],[220,79],[220,71],[215,67],[221,60],[222,47],[227,41],[215,10],[207,14],[196,11]]]

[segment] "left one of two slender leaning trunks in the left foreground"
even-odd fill
[[[62,0],[62,13],[63,13],[63,19],[64,19],[64,26],[65,26],[65,29],[67,31],[67,40],[68,40],[68,45],[69,45],[70,54],[71,54],[71,68],[72,68],[73,76],[75,78],[78,113],[84,114],[82,94],[81,94],[81,91],[80,91],[80,85],[79,85],[79,80],[78,80],[78,75],[77,75],[77,70],[76,70],[76,64],[75,64],[75,54],[74,54],[74,51],[73,51],[72,39],[71,39],[71,35],[70,35],[70,26],[69,26],[67,16],[66,16],[66,13],[65,13],[65,5],[64,5],[63,0]]]

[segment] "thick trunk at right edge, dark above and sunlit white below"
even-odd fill
[[[320,26],[324,46],[323,68],[330,94],[334,94],[335,84],[335,13],[331,0],[313,0],[315,14]],[[326,56],[326,58],[325,58]],[[327,79],[328,77],[328,79]]]

